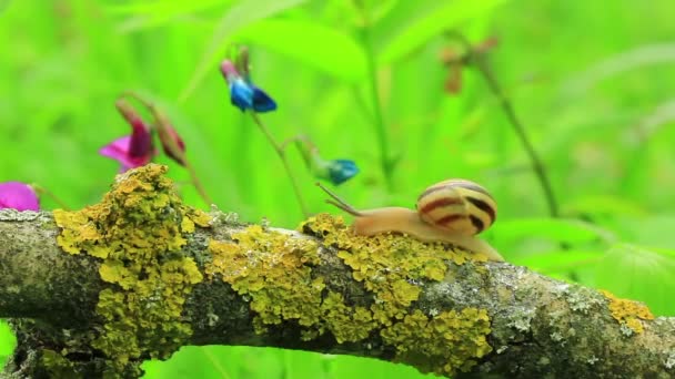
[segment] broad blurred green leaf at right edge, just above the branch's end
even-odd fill
[[[622,244],[596,266],[595,286],[618,297],[644,301],[655,315],[674,316],[675,254]]]

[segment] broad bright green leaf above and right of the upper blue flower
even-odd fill
[[[262,20],[235,37],[353,83],[365,76],[363,48],[350,35],[304,20]],[[290,42],[292,41],[292,42]]]

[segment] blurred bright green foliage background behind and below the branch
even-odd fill
[[[361,173],[338,190],[355,207],[413,206],[432,183],[474,180],[500,204],[485,238],[508,262],[675,315],[673,14],[671,0],[0,0],[0,182],[38,183],[73,208],[98,202],[119,166],[97,151],[129,133],[114,99],[137,90],[169,113],[221,209],[295,227],[303,217],[281,162],[230,105],[218,71],[234,43],[246,44],[256,84],[279,103],[264,122],[280,141],[304,134],[324,157],[356,161]],[[492,69],[563,217],[548,216],[480,73],[466,68],[461,92],[444,91],[447,30],[497,38]],[[396,162],[391,185],[383,141]],[[295,151],[289,158],[311,211],[336,213]],[[185,202],[206,208],[182,167],[157,162],[171,166]],[[57,207],[47,197],[42,206]],[[0,324],[0,363],[12,345]],[[147,378],[420,376],[243,347],[187,347],[144,367]]]

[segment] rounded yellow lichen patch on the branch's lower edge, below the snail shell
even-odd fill
[[[445,376],[467,371],[492,351],[487,334],[490,317],[476,308],[444,311],[431,319],[415,310],[381,332],[383,341],[396,348],[395,360]]]

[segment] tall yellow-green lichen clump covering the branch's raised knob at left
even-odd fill
[[[118,371],[141,357],[168,357],[192,332],[181,313],[202,274],[181,248],[210,217],[181,203],[165,172],[152,164],[129,171],[101,203],[54,211],[59,246],[101,259],[99,274],[109,286],[99,294],[103,326],[92,345]]]

